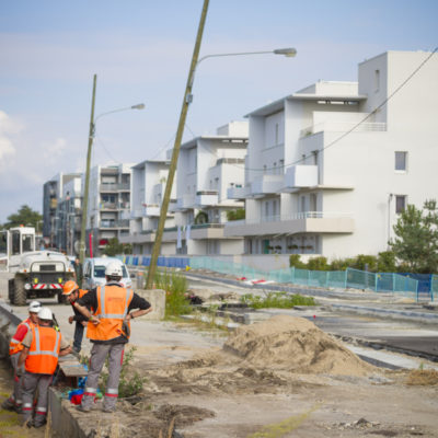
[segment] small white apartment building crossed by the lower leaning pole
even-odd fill
[[[146,160],[132,166],[132,203],[130,208],[130,233],[120,239],[131,243],[134,254],[151,254],[155,241],[155,230],[161,212],[169,174],[169,161]],[[175,181],[175,180],[174,180]],[[164,227],[174,227],[176,189],[173,184],[171,201]],[[162,242],[162,254],[175,254],[174,242]]]

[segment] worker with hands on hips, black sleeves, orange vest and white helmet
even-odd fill
[[[129,342],[130,335],[129,321],[152,311],[148,301],[120,285],[122,277],[120,264],[110,263],[105,268],[106,285],[91,289],[74,303],[74,307],[89,319],[87,337],[93,343],[87,387],[82,403],[78,406],[81,412],[90,412],[93,406],[99,376],[106,357],[108,357],[110,376],[103,411],[115,411],[125,344]],[[87,307],[95,309],[94,314],[91,314]],[[132,309],[139,310],[132,312]]]

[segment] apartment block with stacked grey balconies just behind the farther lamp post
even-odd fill
[[[129,234],[131,165],[96,165],[91,169],[87,234],[92,234],[94,256],[102,253],[111,239],[120,241]]]

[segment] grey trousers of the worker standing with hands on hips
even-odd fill
[[[97,393],[99,376],[108,357],[108,381],[103,399],[103,410],[113,411],[116,407],[118,396],[118,380],[120,378],[125,344],[93,344],[90,357],[90,369],[87,377],[85,391],[83,392],[81,406],[90,410]]]

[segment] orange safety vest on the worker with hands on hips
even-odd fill
[[[97,309],[94,316],[97,316],[101,323],[94,325],[89,322],[87,337],[93,341],[114,339],[124,333],[122,324],[128,314],[134,292],[118,286],[102,286],[97,287],[96,296]],[[128,337],[127,334],[126,337]]]

